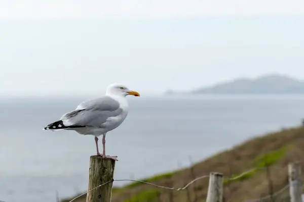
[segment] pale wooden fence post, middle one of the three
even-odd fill
[[[210,173],[209,187],[206,202],[222,202],[223,199],[223,174]]]

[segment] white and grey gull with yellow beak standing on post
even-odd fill
[[[74,130],[83,135],[94,135],[97,155],[104,159],[117,160],[117,156],[105,155],[105,135],[120,126],[129,111],[127,95],[140,96],[123,84],[113,83],[106,88],[105,95],[81,103],[75,110],[68,112],[47,125],[44,130]],[[102,135],[103,153],[98,150],[98,137]]]

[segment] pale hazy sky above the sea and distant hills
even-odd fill
[[[304,1],[0,3],[0,95],[141,94],[237,77],[304,79]]]

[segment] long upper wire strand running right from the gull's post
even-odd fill
[[[236,179],[239,179],[239,178],[243,177],[244,175],[246,175],[246,174],[248,174],[248,173],[250,173],[250,172],[253,172],[253,171],[255,171],[255,170],[260,170],[260,169],[266,169],[266,168],[270,168],[270,167],[257,167],[257,168],[252,168],[252,169],[249,169],[249,170],[247,170],[247,171],[241,173],[240,175],[238,175],[238,176],[236,176],[236,177],[233,177],[233,178],[226,178],[226,180],[236,180]],[[271,168],[284,169],[284,168],[281,168],[281,167],[271,167]],[[105,182],[105,183],[103,183],[103,184],[101,184],[101,185],[99,185],[99,186],[97,186],[97,187],[95,187],[95,188],[93,188],[93,189],[90,189],[89,191],[87,191],[87,192],[85,192],[85,193],[83,193],[83,194],[81,194],[81,195],[79,195],[79,196],[73,198],[73,199],[70,200],[69,202],[72,202],[73,200],[75,200],[75,199],[77,199],[77,198],[79,198],[79,197],[85,195],[86,193],[89,193],[90,191],[92,191],[92,190],[94,190],[94,189],[97,189],[98,187],[101,187],[101,186],[103,186],[103,185],[105,185],[105,184],[108,184],[108,183],[110,183],[110,182],[115,182],[115,181],[141,182],[141,183],[153,185],[153,186],[156,186],[156,187],[159,187],[159,188],[171,189],[171,190],[179,191],[179,190],[184,190],[184,189],[186,189],[189,185],[193,184],[195,181],[200,180],[200,179],[203,179],[203,178],[206,178],[206,177],[209,177],[209,175],[203,175],[203,176],[200,176],[200,177],[198,177],[198,178],[195,178],[194,180],[192,180],[191,182],[189,182],[189,183],[186,184],[185,186],[180,187],[180,188],[177,188],[177,189],[174,188],[174,187],[161,186],[161,185],[157,185],[157,184],[154,184],[154,183],[145,182],[145,181],[141,181],[141,180],[131,180],[131,179],[115,180],[115,179],[112,179],[112,180],[110,180],[110,181],[108,181],[108,182]],[[289,186],[289,185],[288,185],[288,186]],[[285,187],[284,187],[284,188],[285,188]],[[252,201],[250,201],[250,202],[252,202]]]

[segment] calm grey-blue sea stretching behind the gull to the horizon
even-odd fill
[[[304,96],[299,95],[128,99],[127,119],[106,136],[107,155],[119,159],[116,179],[186,167],[264,132],[299,125],[304,118]],[[86,190],[94,137],[42,130],[82,100],[0,99],[0,200],[54,202],[56,191],[62,198]]]

